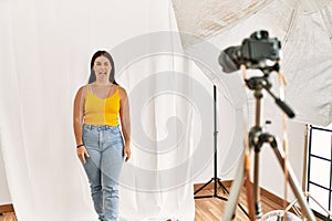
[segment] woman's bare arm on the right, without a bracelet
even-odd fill
[[[124,157],[125,161],[128,161],[131,158],[131,114],[129,114],[129,102],[126,91],[123,87],[118,87],[120,90],[120,118],[122,133],[125,140],[124,147]]]

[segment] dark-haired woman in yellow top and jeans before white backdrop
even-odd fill
[[[89,84],[74,99],[73,124],[94,209],[100,220],[117,220],[117,181],[123,160],[131,158],[131,118],[126,91],[115,82],[114,62],[105,51],[97,51],[91,60]]]

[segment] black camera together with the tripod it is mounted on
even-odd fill
[[[277,97],[270,90],[272,84],[269,76],[272,72],[279,72],[279,60],[281,59],[281,43],[278,39],[269,38],[267,31],[257,31],[250,35],[249,39],[245,39],[240,46],[230,46],[224,50],[219,56],[219,64],[224,72],[230,73],[241,69],[243,72],[246,69],[256,69],[262,72],[262,76],[253,76],[245,78],[247,87],[253,91],[256,99],[256,117],[255,126],[250,128],[248,135],[245,137],[245,155],[239,162],[236,178],[231,186],[228,203],[224,212],[222,221],[230,221],[236,209],[236,204],[240,194],[241,186],[247,183],[247,200],[249,208],[250,220],[264,219],[261,212],[260,196],[259,196],[259,154],[263,144],[270,145],[273,152],[286,173],[288,182],[302,209],[303,215],[308,220],[315,220],[313,212],[307,203],[307,199],[301,190],[295,173],[291,168],[286,152],[280,147],[279,139],[272,134],[264,130],[261,125],[262,105],[261,99],[263,97],[263,90],[268,92],[274,98],[276,104],[283,110],[283,113],[292,118],[294,117],[293,110],[279,97]],[[280,74],[280,72],[279,72]],[[255,150],[253,161],[253,182],[250,185],[250,154]],[[277,214],[278,213],[278,214]],[[284,214],[288,220],[291,215],[284,210]],[[267,215],[267,214],[266,214]],[[274,220],[281,220],[279,212],[273,213]],[[269,219],[272,220],[272,219]]]

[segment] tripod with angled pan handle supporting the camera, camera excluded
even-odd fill
[[[276,70],[277,71],[277,70]],[[248,208],[249,208],[249,218],[250,220],[257,220],[260,219],[262,213],[260,209],[260,197],[259,197],[259,154],[261,150],[261,147],[263,144],[269,144],[271,148],[274,151],[274,155],[281,166],[282,169],[284,167],[288,170],[288,181],[289,185],[294,193],[294,196],[298,199],[299,204],[301,206],[301,209],[303,211],[303,214],[307,217],[308,220],[313,221],[314,215],[310,208],[307,204],[305,198],[302,193],[301,187],[299,185],[299,181],[295,178],[295,173],[293,172],[290,162],[286,160],[286,154],[283,149],[280,148],[280,145],[278,145],[277,138],[263,131],[263,128],[261,127],[261,98],[263,97],[262,90],[266,90],[268,94],[270,94],[277,105],[289,116],[294,117],[294,113],[286,103],[283,103],[280,98],[276,97],[271,88],[271,83],[269,82],[269,72],[264,72],[264,75],[261,77],[251,77],[249,80],[246,80],[246,84],[249,87],[249,90],[255,91],[253,95],[256,98],[256,124],[255,126],[249,130],[248,139],[247,139],[247,149],[246,155],[241,158],[238,167],[238,172],[236,175],[235,181],[231,187],[231,192],[229,196],[228,203],[225,209],[225,213],[222,217],[222,221],[230,221],[234,217],[234,211],[236,208],[236,203],[238,201],[239,194],[240,194],[240,188],[243,185],[245,178],[247,178],[247,200],[248,200]],[[255,168],[253,168],[253,185],[252,185],[252,191],[248,190],[248,187],[251,187],[251,185],[248,185],[250,180],[248,179],[249,171],[250,171],[250,151],[255,150]],[[242,167],[241,167],[242,166]],[[251,194],[252,193],[252,194]]]

